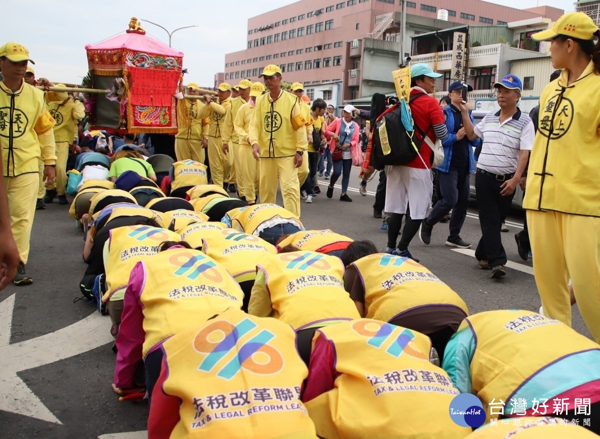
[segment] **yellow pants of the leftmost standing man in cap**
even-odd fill
[[[10,228],[19,249],[23,264],[29,258],[29,237],[34,224],[35,199],[37,198],[39,177],[37,172],[4,177],[4,187],[8,198]]]

